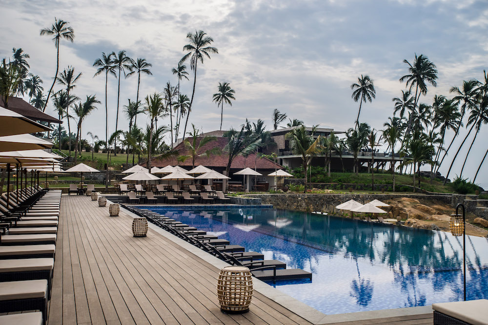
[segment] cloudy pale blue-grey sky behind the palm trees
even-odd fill
[[[13,47],[22,48],[30,55],[31,72],[44,80],[46,93],[56,72],[56,48],[39,32],[50,27],[55,17],[73,27],[74,42],[61,41],[60,71],[74,66],[83,74],[75,94],[81,98],[96,95],[102,102],[83,122],[86,132],[102,138],[105,78],[93,76],[95,59],[102,52],[125,50],[130,57],[152,63],[153,76],[141,77],[143,98],[162,92],[167,81],[177,84],[171,68],[185,54],[186,34],[196,30],[212,37],[212,45],[219,50],[197,70],[188,125],[194,123],[204,132],[220,126],[220,108],[212,102],[219,82],[229,82],[236,97],[232,106],[224,105],[223,129],[237,128],[245,118],[264,119],[271,129],[276,108],[307,125],[346,131],[359,108],[351,98],[350,85],[359,76],[369,75],[376,99],[362,105],[360,122],[380,130],[393,115],[392,98],[405,89],[399,81],[407,74],[404,59],[412,62],[415,54],[424,54],[437,66],[437,87],[429,86],[420,100],[427,104],[435,95],[452,97],[449,89],[461,86],[463,80],[482,80],[488,68],[486,0],[0,0],[0,8],[0,58],[10,57]],[[128,98],[135,100],[137,76],[120,81],[119,129],[126,129],[122,106]],[[115,130],[117,82],[109,78],[110,133]],[[190,97],[192,85],[192,77],[182,81],[181,92]],[[53,114],[51,105],[46,113]],[[146,122],[145,116],[138,117],[140,126]],[[463,129],[454,149],[466,134]],[[452,135],[446,134],[446,141]],[[487,138],[488,126],[484,126],[463,177],[474,177],[487,150]],[[449,178],[459,173],[471,140],[470,136]],[[441,166],[444,175],[454,153]],[[488,187],[488,162],[476,183]]]

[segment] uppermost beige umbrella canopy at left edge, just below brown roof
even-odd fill
[[[53,131],[23,115],[0,106],[0,136]]]

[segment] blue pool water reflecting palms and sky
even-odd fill
[[[462,237],[450,233],[288,210],[144,208],[312,272],[274,286],[325,314],[463,299]],[[488,299],[488,239],[467,236],[466,249],[468,300]]]

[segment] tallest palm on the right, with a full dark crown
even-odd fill
[[[413,86],[415,86],[415,97],[412,110],[412,112],[415,113],[420,95],[427,94],[427,83],[430,83],[434,87],[437,86],[435,81],[437,80],[437,69],[435,64],[430,62],[428,57],[423,54],[418,57],[417,54],[415,54],[413,64],[410,64],[406,59],[404,59],[403,62],[407,63],[408,72],[410,74],[402,76],[400,82],[407,80],[406,86],[410,86],[410,92],[412,91]],[[409,134],[411,123],[412,120],[410,119],[407,125],[407,134]]]

